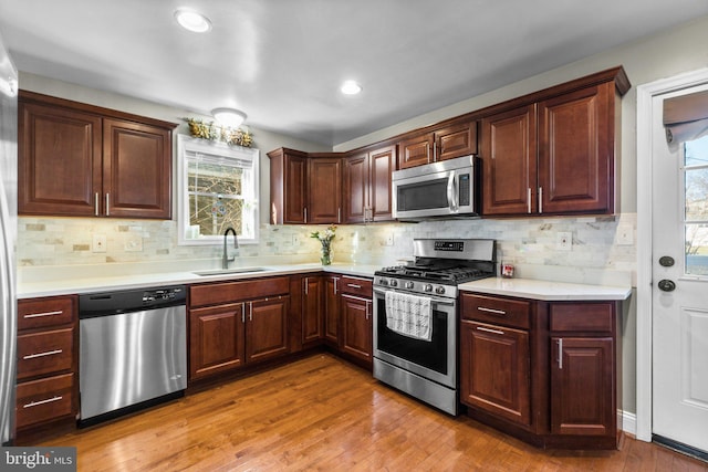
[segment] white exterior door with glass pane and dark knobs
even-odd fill
[[[706,88],[655,96],[654,109]],[[708,451],[708,136],[669,148],[660,118],[652,133],[652,432]]]

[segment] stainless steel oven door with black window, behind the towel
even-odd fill
[[[449,388],[457,388],[457,301],[431,297],[433,336],[420,340],[386,327],[385,292],[374,289],[374,357]]]

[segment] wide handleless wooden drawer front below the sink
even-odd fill
[[[218,305],[289,293],[290,280],[287,276],[192,285],[189,287],[189,306]]]

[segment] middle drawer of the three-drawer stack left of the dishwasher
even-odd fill
[[[71,369],[73,350],[73,328],[18,336],[18,379]]]

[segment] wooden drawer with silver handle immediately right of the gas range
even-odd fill
[[[529,328],[531,302],[462,294],[462,319]]]

